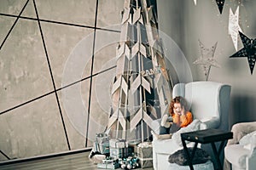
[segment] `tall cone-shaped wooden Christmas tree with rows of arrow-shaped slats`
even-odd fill
[[[148,0],[125,0],[108,128],[115,138],[149,136],[151,122],[168,111],[172,85],[166,71],[157,16]],[[130,137],[130,136],[129,136]]]

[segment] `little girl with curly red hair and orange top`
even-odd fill
[[[172,99],[169,114],[172,116],[172,122],[167,121],[167,114],[164,115],[161,120],[160,134],[151,131],[154,139],[172,138],[172,133],[176,133],[181,127],[187,127],[193,121],[192,113],[187,111],[187,103],[181,96]]]

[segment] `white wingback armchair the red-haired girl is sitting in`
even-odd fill
[[[194,119],[202,123],[200,129],[220,128],[228,130],[228,113],[230,105],[230,85],[219,82],[189,82],[178,83],[172,91],[172,98],[183,96],[190,106]],[[160,120],[152,122],[154,132],[159,133]],[[168,156],[183,149],[182,144],[172,139],[154,139],[153,142],[154,169],[168,169]],[[194,146],[193,143],[187,144]]]

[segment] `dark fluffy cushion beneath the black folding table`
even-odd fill
[[[189,156],[191,156],[193,148],[188,148],[189,150]],[[210,156],[207,154],[205,150],[201,150],[200,148],[197,148],[195,150],[195,156],[193,157],[192,164],[201,164],[205,163],[208,160],[210,160]],[[175,153],[173,153],[171,156],[169,156],[168,159],[169,163],[176,163],[180,166],[188,166],[189,161],[187,159],[187,155],[185,153],[185,150],[177,150]]]

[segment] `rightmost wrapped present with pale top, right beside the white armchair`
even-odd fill
[[[144,159],[144,158],[152,158],[153,157],[153,146],[149,142],[143,142],[137,145],[136,150],[134,151],[137,153],[137,157]]]

